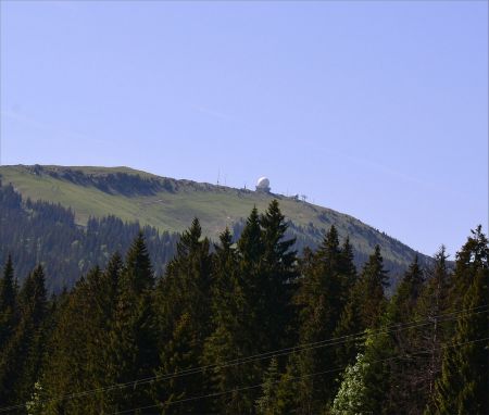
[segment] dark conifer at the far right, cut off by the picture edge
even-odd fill
[[[480,227],[473,231],[457,255],[455,290],[469,284],[463,298],[463,314],[457,319],[452,343],[443,351],[441,376],[436,382],[436,414],[474,414],[489,412],[489,266],[488,241]],[[469,280],[464,280],[464,278]]]

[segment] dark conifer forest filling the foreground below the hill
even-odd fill
[[[214,244],[196,218],[163,275],[140,232],[55,294],[49,264],[8,256],[0,413],[489,413],[480,226],[453,267],[443,247],[413,257],[390,298],[379,247],[356,269],[335,227],[298,253],[287,226],[273,201]]]

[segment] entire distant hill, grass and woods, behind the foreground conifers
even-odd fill
[[[376,244],[383,248],[392,286],[416,254],[349,215],[280,194],[176,180],[127,167],[1,166],[0,176],[2,223],[8,222],[12,230],[14,222],[5,215],[14,215],[20,230],[0,234],[0,261],[5,261],[10,250],[23,267],[22,275],[34,262],[46,263],[51,267],[49,287],[53,289],[71,286],[93,265],[103,266],[109,252],[126,250],[139,226],[145,227],[159,272],[173,254],[175,234],[195,217],[203,235],[214,241],[226,226],[239,237],[249,211],[254,205],[265,210],[273,199],[280,202],[288,235],[296,237],[300,254],[306,247],[316,249],[334,225],[340,241],[350,238],[356,266],[367,261]],[[7,190],[9,185],[22,199]],[[50,237],[51,232],[57,237]],[[430,261],[423,254],[418,257],[424,265]]]

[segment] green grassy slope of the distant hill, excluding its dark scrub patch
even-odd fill
[[[128,167],[45,166],[43,169],[73,169],[92,176],[118,172],[160,179],[158,176]],[[371,253],[374,244],[379,243],[386,260],[406,264],[414,255],[414,251],[409,247],[349,215],[283,196],[171,179],[178,186],[175,192],[158,191],[151,196],[127,197],[121,193],[111,194],[92,186],[80,186],[48,174],[36,175],[27,166],[1,166],[0,175],[3,183],[12,183],[25,198],[71,206],[80,225],[86,224],[89,216],[112,214],[124,221],[139,221],[161,230],[181,231],[197,216],[202,223],[203,231],[215,238],[226,225],[247,217],[253,205],[263,212],[269,201],[277,198],[284,214],[296,225],[327,229],[334,224],[340,237],[350,235],[354,248],[360,252]],[[309,235],[306,230],[304,232]]]

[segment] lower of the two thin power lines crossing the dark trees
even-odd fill
[[[476,340],[465,341],[465,342],[463,342],[463,343],[457,343],[457,344],[448,344],[448,345],[444,345],[444,347],[440,347],[440,348],[438,348],[437,350],[443,350],[443,349],[449,349],[449,348],[455,348],[455,347],[460,347],[460,345],[464,345],[464,344],[469,344],[469,343],[477,343],[477,342],[479,342],[479,341],[485,341],[485,340],[489,340],[489,337],[486,337],[486,338],[482,338],[482,339],[476,339]],[[424,350],[424,351],[422,351],[422,352],[413,353],[412,355],[423,354],[423,353],[427,353],[427,352],[430,352],[430,350]],[[389,361],[397,361],[397,360],[399,360],[399,359],[402,359],[402,357],[387,357],[387,359],[379,359],[379,360],[376,360],[376,361],[372,361],[372,362],[369,362],[369,363],[383,363],[383,362],[389,362]],[[326,374],[335,373],[335,372],[342,372],[342,370],[346,370],[347,367],[349,367],[349,366],[350,366],[350,365],[348,365],[348,366],[342,366],[342,367],[337,367],[337,368],[329,369],[329,370],[316,372],[316,373],[313,373],[313,374],[308,374],[308,375],[302,375],[302,376],[294,376],[294,377],[291,377],[291,378],[289,378],[289,379],[292,380],[292,381],[296,381],[296,380],[303,379],[303,378],[308,378],[308,377],[321,376],[321,375],[326,375]],[[276,381],[273,381],[272,383],[273,383],[273,385],[276,385],[276,383],[279,383],[279,382],[280,382],[280,380],[276,380]],[[208,398],[216,398],[216,397],[221,397],[221,395],[224,395],[224,394],[227,394],[227,393],[241,392],[241,391],[249,390],[249,389],[261,388],[261,387],[263,387],[264,385],[265,385],[265,383],[258,383],[258,385],[252,385],[252,386],[248,386],[248,387],[241,387],[241,388],[229,389],[229,390],[226,390],[226,391],[223,391],[223,392],[209,393],[209,394],[203,394],[203,395],[199,395],[199,397],[190,397],[190,398],[186,398],[186,399],[180,399],[180,400],[177,400],[177,401],[168,402],[166,405],[170,406],[170,405],[174,405],[174,404],[177,404],[177,403],[185,403],[185,402],[190,402],[190,401],[198,401],[198,400],[201,400],[201,399],[208,399]],[[130,413],[130,412],[133,412],[133,411],[150,410],[150,408],[152,408],[152,407],[158,407],[158,406],[160,406],[160,405],[161,405],[161,403],[160,403],[160,404],[155,404],[155,405],[140,406],[140,407],[131,408],[131,410],[117,411],[117,412],[114,412],[113,414],[114,414],[114,415],[127,414],[127,413]]]

